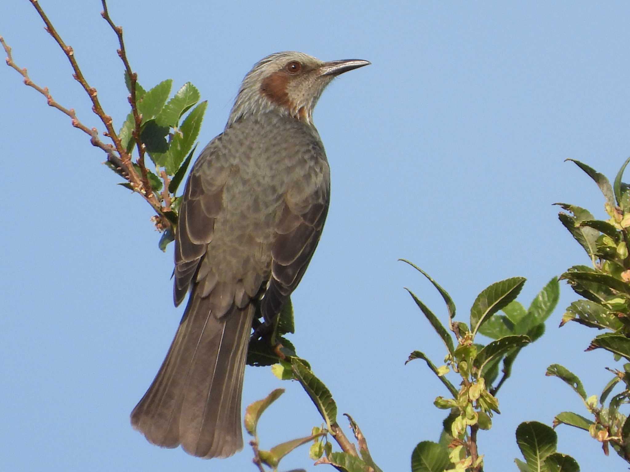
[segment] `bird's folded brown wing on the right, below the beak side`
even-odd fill
[[[324,227],[330,180],[327,162],[319,162],[321,171],[314,179],[306,179],[306,183],[298,179],[284,196],[284,208],[272,245],[272,277],[261,307],[267,320],[280,313],[285,300],[302,279]]]

